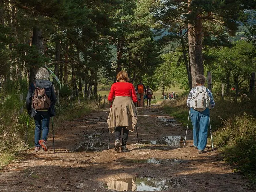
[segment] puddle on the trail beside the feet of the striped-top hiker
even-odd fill
[[[140,141],[140,143],[150,145],[168,145],[170,147],[183,147],[183,140],[184,138],[181,136],[164,136],[160,140],[144,140]]]

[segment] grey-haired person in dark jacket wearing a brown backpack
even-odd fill
[[[50,75],[47,69],[40,68],[36,74],[36,79],[29,87],[26,97],[28,113],[31,113],[31,117],[35,119],[34,152],[38,152],[40,146],[44,151],[48,151],[46,141],[49,133],[50,117],[56,115],[54,105],[57,99],[53,90],[53,83],[48,79],[50,79]]]

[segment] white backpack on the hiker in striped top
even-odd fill
[[[204,111],[210,105],[210,97],[206,87],[196,87],[196,91],[192,93],[192,99],[189,106],[197,111]]]

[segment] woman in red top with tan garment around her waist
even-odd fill
[[[128,140],[129,131],[133,132],[137,124],[138,111],[134,105],[137,102],[137,96],[133,84],[129,83],[128,74],[125,71],[120,71],[116,79],[119,82],[112,84],[108,100],[113,101],[112,108],[110,109],[107,123],[108,128],[113,133],[115,131],[115,151],[126,152],[126,142]],[[121,145],[121,131],[123,129],[122,145]]]

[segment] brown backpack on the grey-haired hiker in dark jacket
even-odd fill
[[[50,98],[45,94],[45,88],[36,87],[34,82],[35,94],[33,97],[33,108],[35,110],[45,110],[51,106]]]

